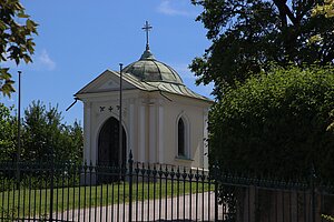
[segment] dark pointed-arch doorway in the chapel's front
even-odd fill
[[[119,121],[111,117],[102,125],[98,140],[98,165],[115,167],[126,163],[127,135],[122,127],[122,150],[119,152]],[[121,155],[121,160],[120,159]],[[109,178],[109,179],[107,179]],[[110,178],[99,176],[99,182],[109,182]],[[107,180],[107,181],[106,181]]]

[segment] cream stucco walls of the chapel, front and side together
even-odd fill
[[[84,137],[87,163],[97,163],[98,138],[102,124],[118,119],[118,92],[105,92],[81,98],[84,101]],[[168,99],[167,99],[168,98]],[[109,108],[112,111],[109,111]],[[127,154],[145,163],[184,165],[207,169],[204,137],[208,102],[175,94],[129,90],[124,92],[122,124],[127,134]],[[101,109],[104,108],[104,109]],[[177,157],[177,120],[185,118],[188,129],[188,157]]]

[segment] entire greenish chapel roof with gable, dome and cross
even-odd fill
[[[154,54],[150,52],[149,42],[148,42],[148,31],[151,27],[146,22],[146,26],[143,28],[146,30],[146,50],[141,54],[140,59],[136,62],[128,64],[122,69],[122,80],[132,85],[136,89],[154,92],[159,91],[168,92],[173,94],[178,94],[187,98],[199,99],[206,102],[212,103],[213,101],[206,97],[203,97],[190,89],[188,89],[180,75],[169,65],[156,60]],[[106,70],[98,78],[82,88],[79,92],[76,93],[76,97],[82,95],[86,93],[95,93],[98,91],[105,92],[107,88],[104,89],[94,89],[95,85],[98,85],[100,80],[105,80],[104,77],[107,75],[120,78],[120,73],[116,71]],[[110,75],[109,75],[110,77]],[[102,81],[104,82],[104,81]],[[97,83],[97,84],[95,84]],[[132,89],[131,87],[129,89]],[[118,88],[111,88],[110,91],[117,91]],[[126,89],[124,89],[126,90]]]

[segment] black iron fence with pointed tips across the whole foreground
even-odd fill
[[[333,189],[134,163],[0,163],[1,221],[320,222]]]

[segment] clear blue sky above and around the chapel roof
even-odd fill
[[[11,67],[14,80],[17,70],[22,70],[23,109],[41,100],[58,104],[67,123],[82,121],[81,102],[65,111],[73,94],[106,69],[119,70],[119,63],[139,59],[146,20],[154,27],[150,49],[155,57],[173,67],[191,90],[210,97],[213,87],[196,87],[187,69],[210,44],[203,24],[195,21],[202,9],[190,0],[22,0],[22,4],[39,23],[33,63],[3,65]],[[17,104],[17,93],[1,100]]]

